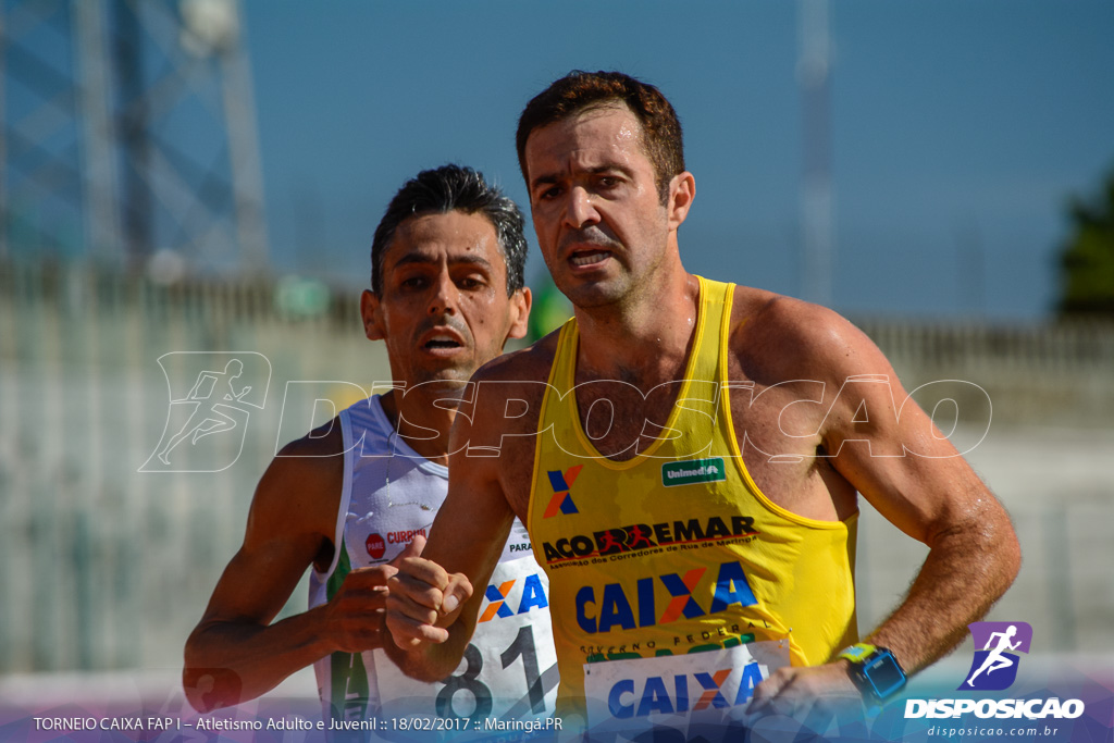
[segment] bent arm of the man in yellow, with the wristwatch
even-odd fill
[[[1017,575],[1020,549],[1009,517],[929,417],[906,399],[878,348],[822,307],[793,303],[778,311],[790,333],[789,363],[825,384],[819,452],[882,516],[929,547],[908,595],[866,642],[890,648],[907,673],[958,644]],[[793,342],[795,341],[795,343]],[[847,384],[856,375],[871,383]],[[840,648],[837,648],[840,649]],[[847,662],[786,669],[756,695],[847,690]]]

